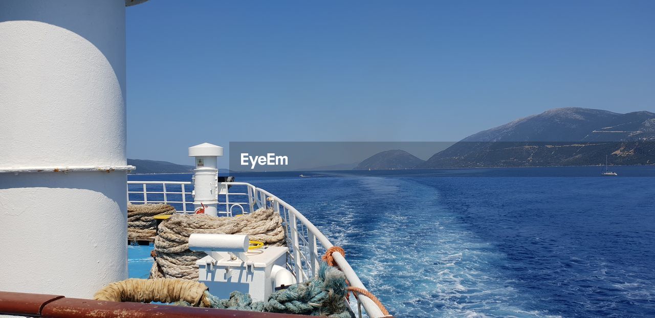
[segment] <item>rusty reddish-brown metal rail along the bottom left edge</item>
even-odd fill
[[[306,315],[289,315],[284,313],[261,313],[255,311],[141,304],[138,302],[101,302],[90,299],[66,298],[58,295],[3,291],[0,291],[0,315],[48,318],[310,317]]]

